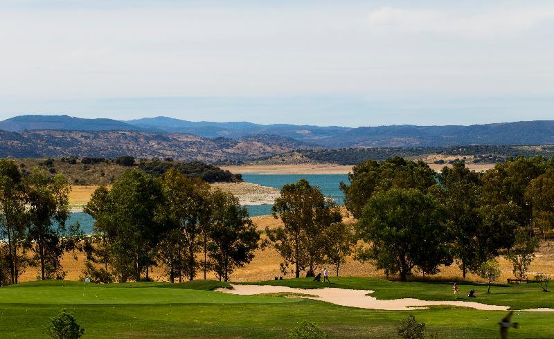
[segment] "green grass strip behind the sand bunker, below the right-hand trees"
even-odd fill
[[[365,277],[331,277],[331,284],[314,282],[312,278],[269,280],[254,284],[279,285],[296,288],[350,288],[373,290],[373,297],[382,300],[415,297],[421,300],[454,300],[452,283],[445,282],[390,282]],[[247,283],[251,284],[251,283]],[[458,282],[458,299],[483,304],[510,306],[511,309],[554,308],[554,292],[542,292],[539,284],[494,285],[487,293],[487,285]],[[468,298],[471,289],[477,290],[476,299]]]

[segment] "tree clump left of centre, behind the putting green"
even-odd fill
[[[98,187],[84,212],[96,219],[84,274],[97,282],[151,280],[159,264],[170,282],[200,271],[227,281],[251,261],[260,239],[233,194],[176,168],[163,177],[127,170],[111,189]]]

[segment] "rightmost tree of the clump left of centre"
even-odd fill
[[[228,281],[235,268],[251,262],[260,234],[249,219],[247,208],[239,205],[233,194],[220,194],[219,198],[212,205],[208,250],[215,274]]]

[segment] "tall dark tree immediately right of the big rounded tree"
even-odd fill
[[[452,234],[452,254],[465,279],[467,271],[476,269],[481,261],[476,248],[479,244],[476,235],[483,231],[479,214],[480,176],[458,161],[452,168],[444,167],[438,180],[440,185],[436,185],[434,192],[445,206],[447,225]]]

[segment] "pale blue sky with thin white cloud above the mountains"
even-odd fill
[[[0,0],[0,119],[554,120],[554,1]]]

